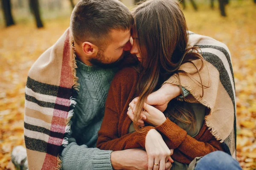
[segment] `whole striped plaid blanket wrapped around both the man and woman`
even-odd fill
[[[216,139],[221,140],[227,153],[236,156],[236,103],[230,52],[226,45],[209,37],[189,32],[189,44],[202,49],[206,60],[201,77],[210,88],[201,90],[190,78],[180,75],[181,85],[198,102],[207,106],[207,126]],[[76,105],[74,97],[79,88],[76,77],[76,55],[68,28],[60,39],[45,51],[29,71],[25,92],[24,136],[29,169],[61,169],[59,154],[68,144],[69,120]],[[197,61],[194,62],[198,64]],[[194,71],[189,63],[180,67]],[[208,73],[208,72],[207,72]],[[193,75],[198,80],[197,74]],[[177,84],[174,75],[166,82]]]

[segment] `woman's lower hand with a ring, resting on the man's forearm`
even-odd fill
[[[167,147],[162,136],[155,129],[148,131],[145,149],[148,155],[148,170],[165,170],[167,161],[173,162],[171,158],[173,150]]]

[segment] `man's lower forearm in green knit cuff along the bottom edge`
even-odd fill
[[[63,170],[147,170],[148,156],[144,150],[114,151],[79,146],[74,138],[61,153]],[[170,167],[170,163],[166,164]]]

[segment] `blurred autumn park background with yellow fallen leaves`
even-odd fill
[[[121,1],[132,9],[134,0]],[[4,17],[9,12],[8,2],[14,25]],[[0,0],[0,170],[14,170],[12,148],[25,146],[27,74],[69,26],[71,2],[77,0]],[[255,170],[256,0],[183,0],[181,8],[184,2],[189,30],[224,42],[230,49],[236,83],[237,159],[244,170]],[[34,16],[40,17],[41,23],[36,23]]]

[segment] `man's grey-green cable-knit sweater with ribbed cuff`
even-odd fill
[[[112,170],[110,150],[96,148],[108,89],[116,68],[87,66],[77,61],[80,88],[70,120],[72,137],[61,153],[63,170]]]

